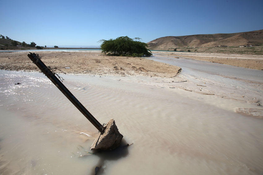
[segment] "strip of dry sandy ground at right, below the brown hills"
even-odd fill
[[[154,52],[175,58],[191,58],[195,60],[210,61],[232,66],[263,70],[262,55],[240,55],[224,53],[193,53],[193,52]]]

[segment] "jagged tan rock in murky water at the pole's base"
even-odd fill
[[[91,150],[112,150],[120,145],[123,135],[119,133],[114,119],[110,119],[104,128],[104,133],[95,139]]]

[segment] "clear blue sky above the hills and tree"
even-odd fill
[[[263,29],[263,0],[0,0],[0,34],[40,46]]]

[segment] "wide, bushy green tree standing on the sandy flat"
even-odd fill
[[[151,56],[152,52],[147,49],[147,44],[137,41],[140,38],[131,39],[128,36],[121,36],[115,40],[99,40],[101,44],[101,52],[114,56]]]

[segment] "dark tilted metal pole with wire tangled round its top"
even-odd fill
[[[37,67],[43,72],[57,88],[73,103],[76,108],[103,134],[103,126],[93,117],[93,115],[88,112],[88,110],[78,101],[77,98],[63,85],[63,83],[55,76],[55,74],[48,68],[41,60],[40,57],[31,53],[28,54],[28,57],[37,65]]]

